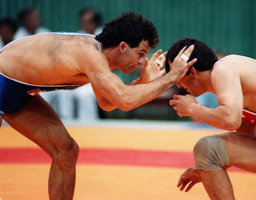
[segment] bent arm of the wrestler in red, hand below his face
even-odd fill
[[[177,114],[193,116],[206,124],[224,130],[238,129],[241,125],[243,94],[239,73],[231,68],[232,66],[224,66],[212,72],[212,86],[217,95],[218,107],[212,109],[200,105],[189,95],[174,96],[170,104],[177,110]]]

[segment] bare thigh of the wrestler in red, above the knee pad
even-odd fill
[[[256,173],[256,134],[228,132],[219,136],[226,146],[231,166]]]

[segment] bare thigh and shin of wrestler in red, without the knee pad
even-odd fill
[[[256,135],[246,132],[228,132],[219,135],[227,149],[230,166],[256,173]],[[233,188],[226,170],[198,169],[212,200],[234,200]]]

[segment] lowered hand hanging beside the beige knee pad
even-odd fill
[[[182,175],[180,175],[180,179],[178,181],[177,187],[179,188],[180,186],[180,191],[183,191],[183,189],[187,186],[185,192],[189,192],[189,190],[196,184],[202,182],[201,177],[198,173],[197,169],[194,169],[193,167],[189,167],[186,169],[185,172],[183,172]]]

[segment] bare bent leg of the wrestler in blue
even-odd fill
[[[49,199],[72,200],[79,146],[55,111],[41,96],[36,95],[22,110],[5,114],[4,119],[51,156]]]

